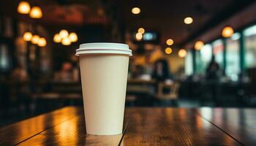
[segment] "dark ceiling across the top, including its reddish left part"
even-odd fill
[[[1,4],[2,12],[18,15],[18,1]],[[94,23],[118,21],[128,31],[143,27],[157,31],[161,42],[171,38],[176,46],[182,46],[198,35],[216,26],[243,9],[253,0],[27,0],[42,7],[42,22],[50,25],[83,26]],[[10,9],[13,7],[13,9]],[[139,15],[131,13],[132,7],[140,7]],[[191,25],[183,23],[192,17]]]

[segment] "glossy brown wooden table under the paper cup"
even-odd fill
[[[0,128],[0,145],[256,145],[256,110],[127,108],[124,133],[86,135],[83,108]]]

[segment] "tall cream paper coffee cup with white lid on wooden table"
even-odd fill
[[[119,43],[87,43],[75,55],[80,60],[86,133],[121,134],[132,50]]]

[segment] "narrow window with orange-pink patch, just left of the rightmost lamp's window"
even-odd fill
[[[222,39],[217,39],[212,43],[215,61],[219,64],[219,66],[223,69],[223,42]]]

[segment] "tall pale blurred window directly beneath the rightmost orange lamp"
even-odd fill
[[[229,39],[227,39],[227,67],[226,75],[231,80],[237,81],[238,74],[240,73],[239,67],[239,39],[240,34],[236,33]]]

